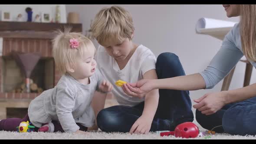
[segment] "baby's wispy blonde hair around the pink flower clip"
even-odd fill
[[[62,74],[67,72],[67,66],[71,67],[75,64],[79,56],[83,56],[83,49],[94,48],[90,39],[82,35],[82,33],[70,33],[71,28],[64,28],[64,32],[60,29],[56,31],[56,37],[53,39],[53,58],[57,68]],[[79,42],[78,48],[71,48],[69,40],[75,38]]]

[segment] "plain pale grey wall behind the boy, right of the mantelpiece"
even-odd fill
[[[77,12],[83,31],[89,29],[90,21],[102,7],[111,5],[66,5],[67,13]],[[222,5],[120,5],[133,16],[134,42],[150,48],[156,56],[161,52],[173,52],[179,56],[187,75],[203,71],[220,49],[221,41],[195,33],[195,24],[201,17],[239,21],[239,17],[227,18]],[[98,43],[94,42],[96,46]],[[230,89],[243,86],[245,63],[239,62]],[[256,82],[253,69],[251,83]],[[213,89],[190,91],[193,99],[207,92],[218,92],[222,81]],[[194,104],[194,102],[193,102]],[[194,108],[193,108],[194,110]]]

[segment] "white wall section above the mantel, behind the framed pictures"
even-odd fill
[[[59,4],[60,6],[60,13],[61,13],[61,23],[67,22],[66,16],[66,5]],[[41,13],[50,13],[51,17],[55,21],[55,13],[56,13],[56,4],[1,4],[0,11],[9,11],[11,13],[11,20],[15,21],[16,17],[19,13],[23,15],[23,21],[27,21],[27,13],[25,11],[26,7],[32,8],[32,20],[36,14],[41,16]]]

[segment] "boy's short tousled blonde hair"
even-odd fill
[[[93,37],[102,46],[109,43],[120,43],[129,38],[135,28],[131,14],[122,7],[112,6],[100,10],[91,25]]]

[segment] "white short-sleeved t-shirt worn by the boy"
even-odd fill
[[[117,80],[133,83],[143,79],[145,72],[155,69],[156,57],[153,52],[143,45],[139,45],[125,65],[119,68],[115,59],[108,55],[103,46],[99,46],[95,60],[102,75],[113,85],[113,91],[119,105],[135,106],[144,101],[140,98],[132,98],[125,94],[121,87],[115,85]]]

